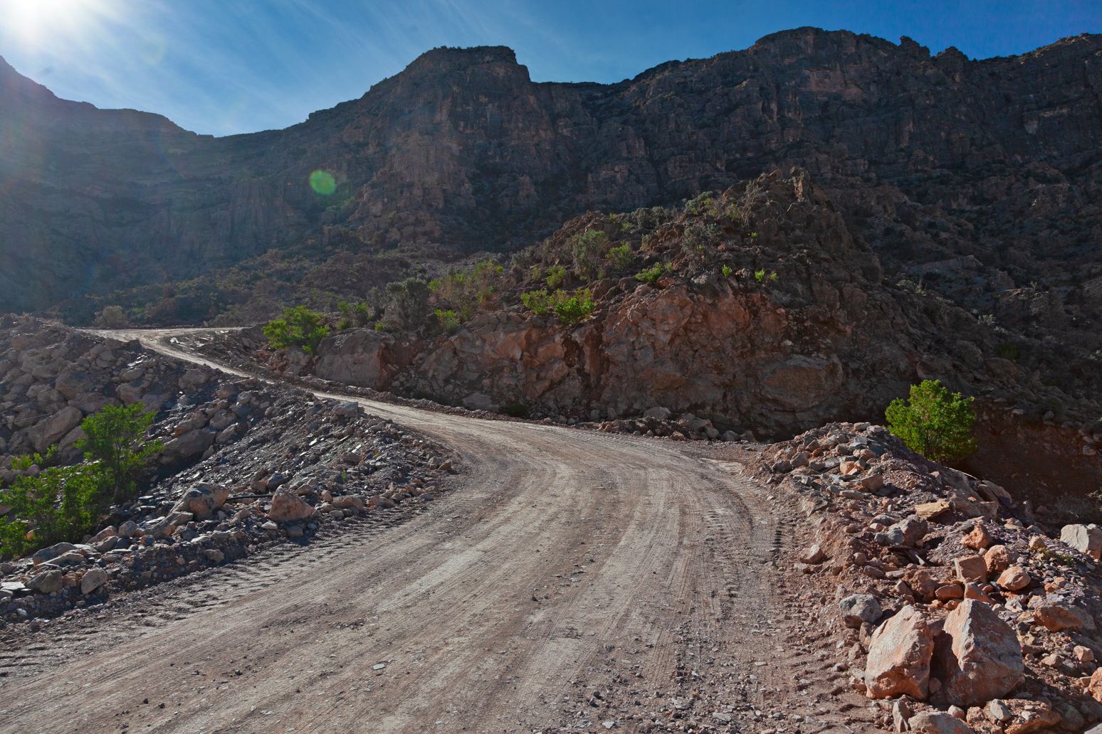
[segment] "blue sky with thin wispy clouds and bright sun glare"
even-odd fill
[[[986,58],[1102,32],[1102,1],[0,0],[0,55],[60,97],[225,135],[359,97],[434,46],[511,46],[538,81],[618,81],[800,25]]]

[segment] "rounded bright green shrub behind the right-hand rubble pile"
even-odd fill
[[[906,403],[897,397],[884,415],[888,430],[912,451],[939,463],[959,462],[976,450],[974,399],[950,394],[937,380],[923,380],[911,385]]]

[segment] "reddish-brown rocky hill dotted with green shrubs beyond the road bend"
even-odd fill
[[[541,313],[533,295],[554,291],[591,295],[592,311]],[[385,330],[338,330],[311,355],[266,351],[256,332],[231,340],[277,372],[469,408],[575,421],[660,408],[759,437],[880,419],[936,377],[980,399],[975,471],[1079,494],[1102,478],[1102,372],[1083,354],[1098,333],[1033,339],[893,282],[803,171],[679,209],[585,215],[508,270],[434,283],[422,321],[389,327],[396,307]],[[1051,460],[1024,458],[1036,451]]]

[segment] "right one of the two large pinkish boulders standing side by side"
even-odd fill
[[[973,599],[946,617],[933,660],[946,698],[961,706],[1003,698],[1025,671],[1017,635],[988,604]]]

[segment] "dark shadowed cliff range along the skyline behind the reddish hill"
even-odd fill
[[[302,124],[224,139],[60,100],[7,64],[0,91],[0,310],[323,233],[364,251],[508,250],[586,209],[790,165],[892,272],[922,267],[916,280],[992,310],[1031,281],[1063,288],[1065,314],[1102,292],[1100,36],[970,62],[799,29],[615,85],[534,84],[503,47],[435,50]],[[334,176],[323,193],[318,169]]]

